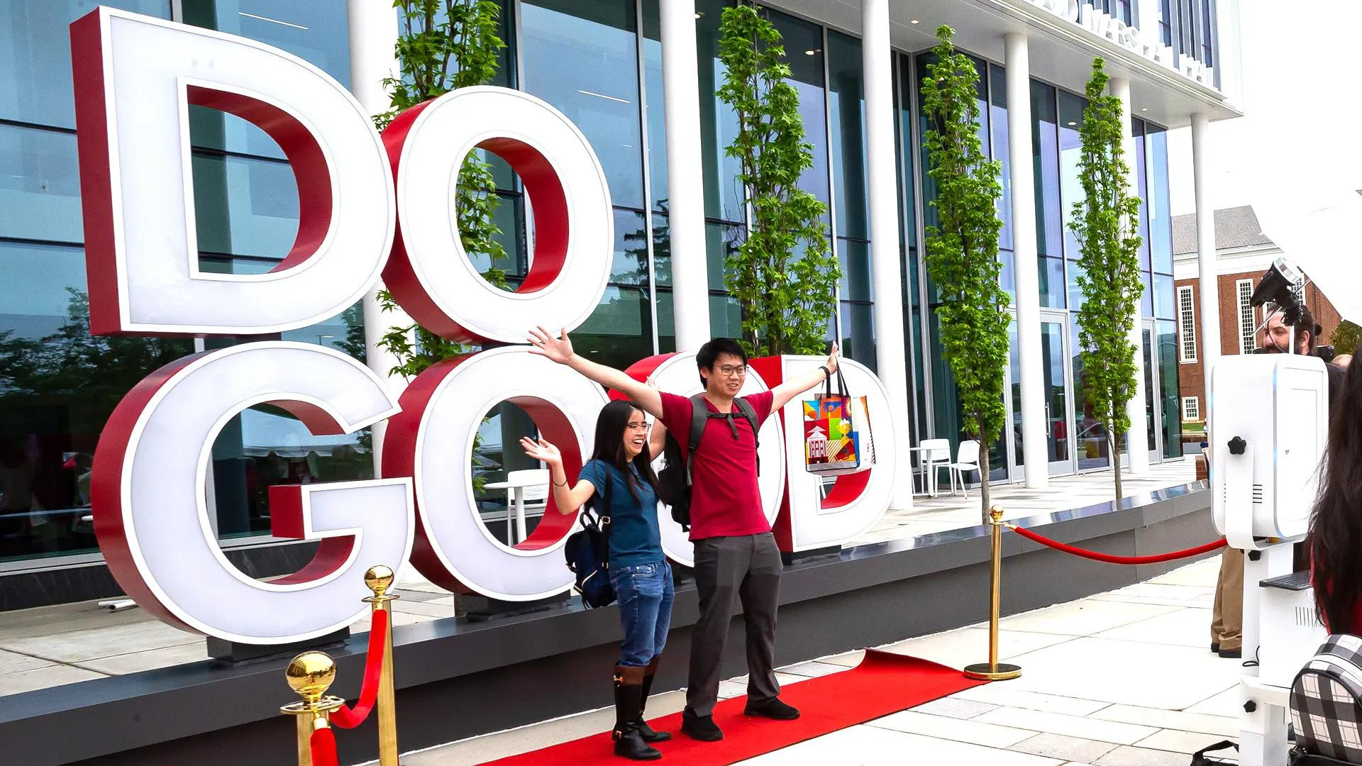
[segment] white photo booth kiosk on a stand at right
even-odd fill
[[[1293,338],[1294,342],[1294,338]],[[1211,489],[1216,529],[1244,562],[1245,766],[1287,762],[1291,681],[1324,642],[1309,572],[1293,574],[1328,435],[1328,373],[1313,356],[1220,358],[1211,376]]]

